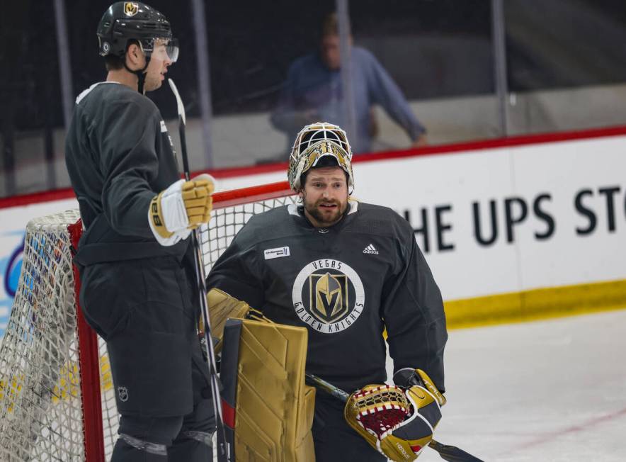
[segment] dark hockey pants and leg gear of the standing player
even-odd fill
[[[211,460],[197,295],[174,257],[86,266],[81,305],[106,340],[121,415],[113,462]]]

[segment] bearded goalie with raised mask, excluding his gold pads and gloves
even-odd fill
[[[274,322],[307,327],[307,372],[343,390],[385,382],[386,327],[395,383],[420,383],[421,368],[443,392],[448,334],[439,288],[409,223],[351,199],[351,157],[341,128],[303,128],[288,170],[302,205],[253,216],[207,287]],[[317,461],[386,460],[348,427],[343,404],[324,393],[317,393],[312,432]]]

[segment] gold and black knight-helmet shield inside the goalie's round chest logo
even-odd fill
[[[348,278],[345,274],[309,276],[309,307],[321,322],[334,322],[348,311]]]

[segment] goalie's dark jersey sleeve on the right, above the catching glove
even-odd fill
[[[399,266],[383,288],[382,316],[394,372],[421,368],[445,391],[443,349],[448,340],[443,300],[412,230],[400,244]]]

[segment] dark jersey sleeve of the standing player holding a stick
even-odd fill
[[[152,238],[147,210],[159,192],[150,187],[159,172],[158,111],[134,101],[111,106],[106,120],[96,128],[100,131],[96,140],[104,178],[103,211],[120,234]]]

